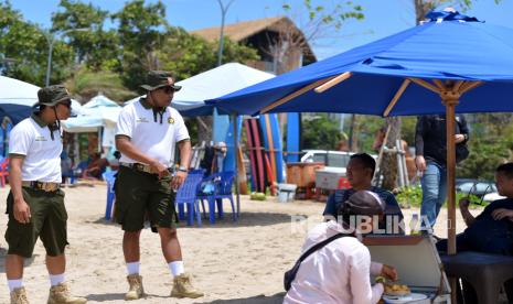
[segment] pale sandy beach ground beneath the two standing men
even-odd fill
[[[64,188],[68,211],[68,241],[66,278],[74,294],[88,303],[125,303],[127,291],[126,268],[121,251],[121,229],[104,219],[106,186]],[[9,187],[0,189],[2,208]],[[145,300],[131,303],[281,303],[282,273],[299,256],[309,225],[321,220],[324,203],[296,200],[280,204],[276,197],[266,202],[249,200],[242,196],[241,218],[232,220],[229,203],[224,204],[224,219],[215,225],[207,220],[203,227],[179,226],[185,271],[194,275],[194,284],[205,292],[196,300],[169,297],[171,274],[161,254],[159,237],[149,229],[141,235],[141,275]],[[409,221],[418,209],[403,210]],[[473,210],[478,213],[479,210]],[[457,229],[464,224],[457,211]],[[435,227],[436,235],[446,237],[442,209]],[[0,217],[3,236],[7,215]],[[3,289],[0,303],[9,303],[4,276],[6,241],[1,239],[0,270]],[[50,282],[44,264],[44,248],[38,242],[34,257],[28,260],[24,285],[31,303],[46,303]]]

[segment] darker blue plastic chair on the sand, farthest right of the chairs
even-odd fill
[[[204,199],[209,203],[209,219],[211,224],[215,224],[215,207],[217,205],[218,218],[223,218],[223,199],[229,199],[232,204],[233,219],[237,219],[235,213],[235,205],[233,199],[232,186],[235,178],[233,171],[226,171],[222,173],[215,173],[206,177],[203,182],[213,182],[215,185],[214,193],[200,195],[201,205],[203,207],[203,214],[206,216]]]

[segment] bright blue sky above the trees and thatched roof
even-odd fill
[[[50,26],[51,14],[57,10],[60,0],[11,0],[12,7],[30,20]],[[89,1],[84,1],[89,2]],[[126,0],[92,0],[92,3],[111,12],[122,8]],[[152,2],[147,0],[147,2]],[[171,25],[185,30],[218,26],[221,9],[217,0],[162,0],[167,6],[168,21]],[[223,2],[228,2],[223,0]],[[282,0],[235,0],[226,14],[226,22],[234,23],[246,20],[276,17],[282,14]],[[289,0],[292,8],[301,8],[302,0]],[[332,0],[313,0],[314,4],[332,6]],[[339,1],[343,2],[343,1]],[[415,25],[413,0],[354,0],[364,9],[363,21],[350,21],[342,30],[313,44],[319,58],[324,58],[367,42],[394,34]],[[469,15],[490,23],[513,29],[513,1],[474,0]],[[300,18],[300,12],[296,13]]]

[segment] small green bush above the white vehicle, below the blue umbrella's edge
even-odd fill
[[[301,141],[304,149],[336,150],[341,133],[339,126],[327,113],[317,113],[302,120]]]

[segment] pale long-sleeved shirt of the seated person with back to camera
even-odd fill
[[[333,220],[319,224],[309,231],[301,254],[339,232],[343,229]],[[359,239],[335,239],[301,263],[284,303],[377,303],[383,284],[372,286],[370,274],[380,274],[382,268],[383,264],[371,262],[368,249]]]

